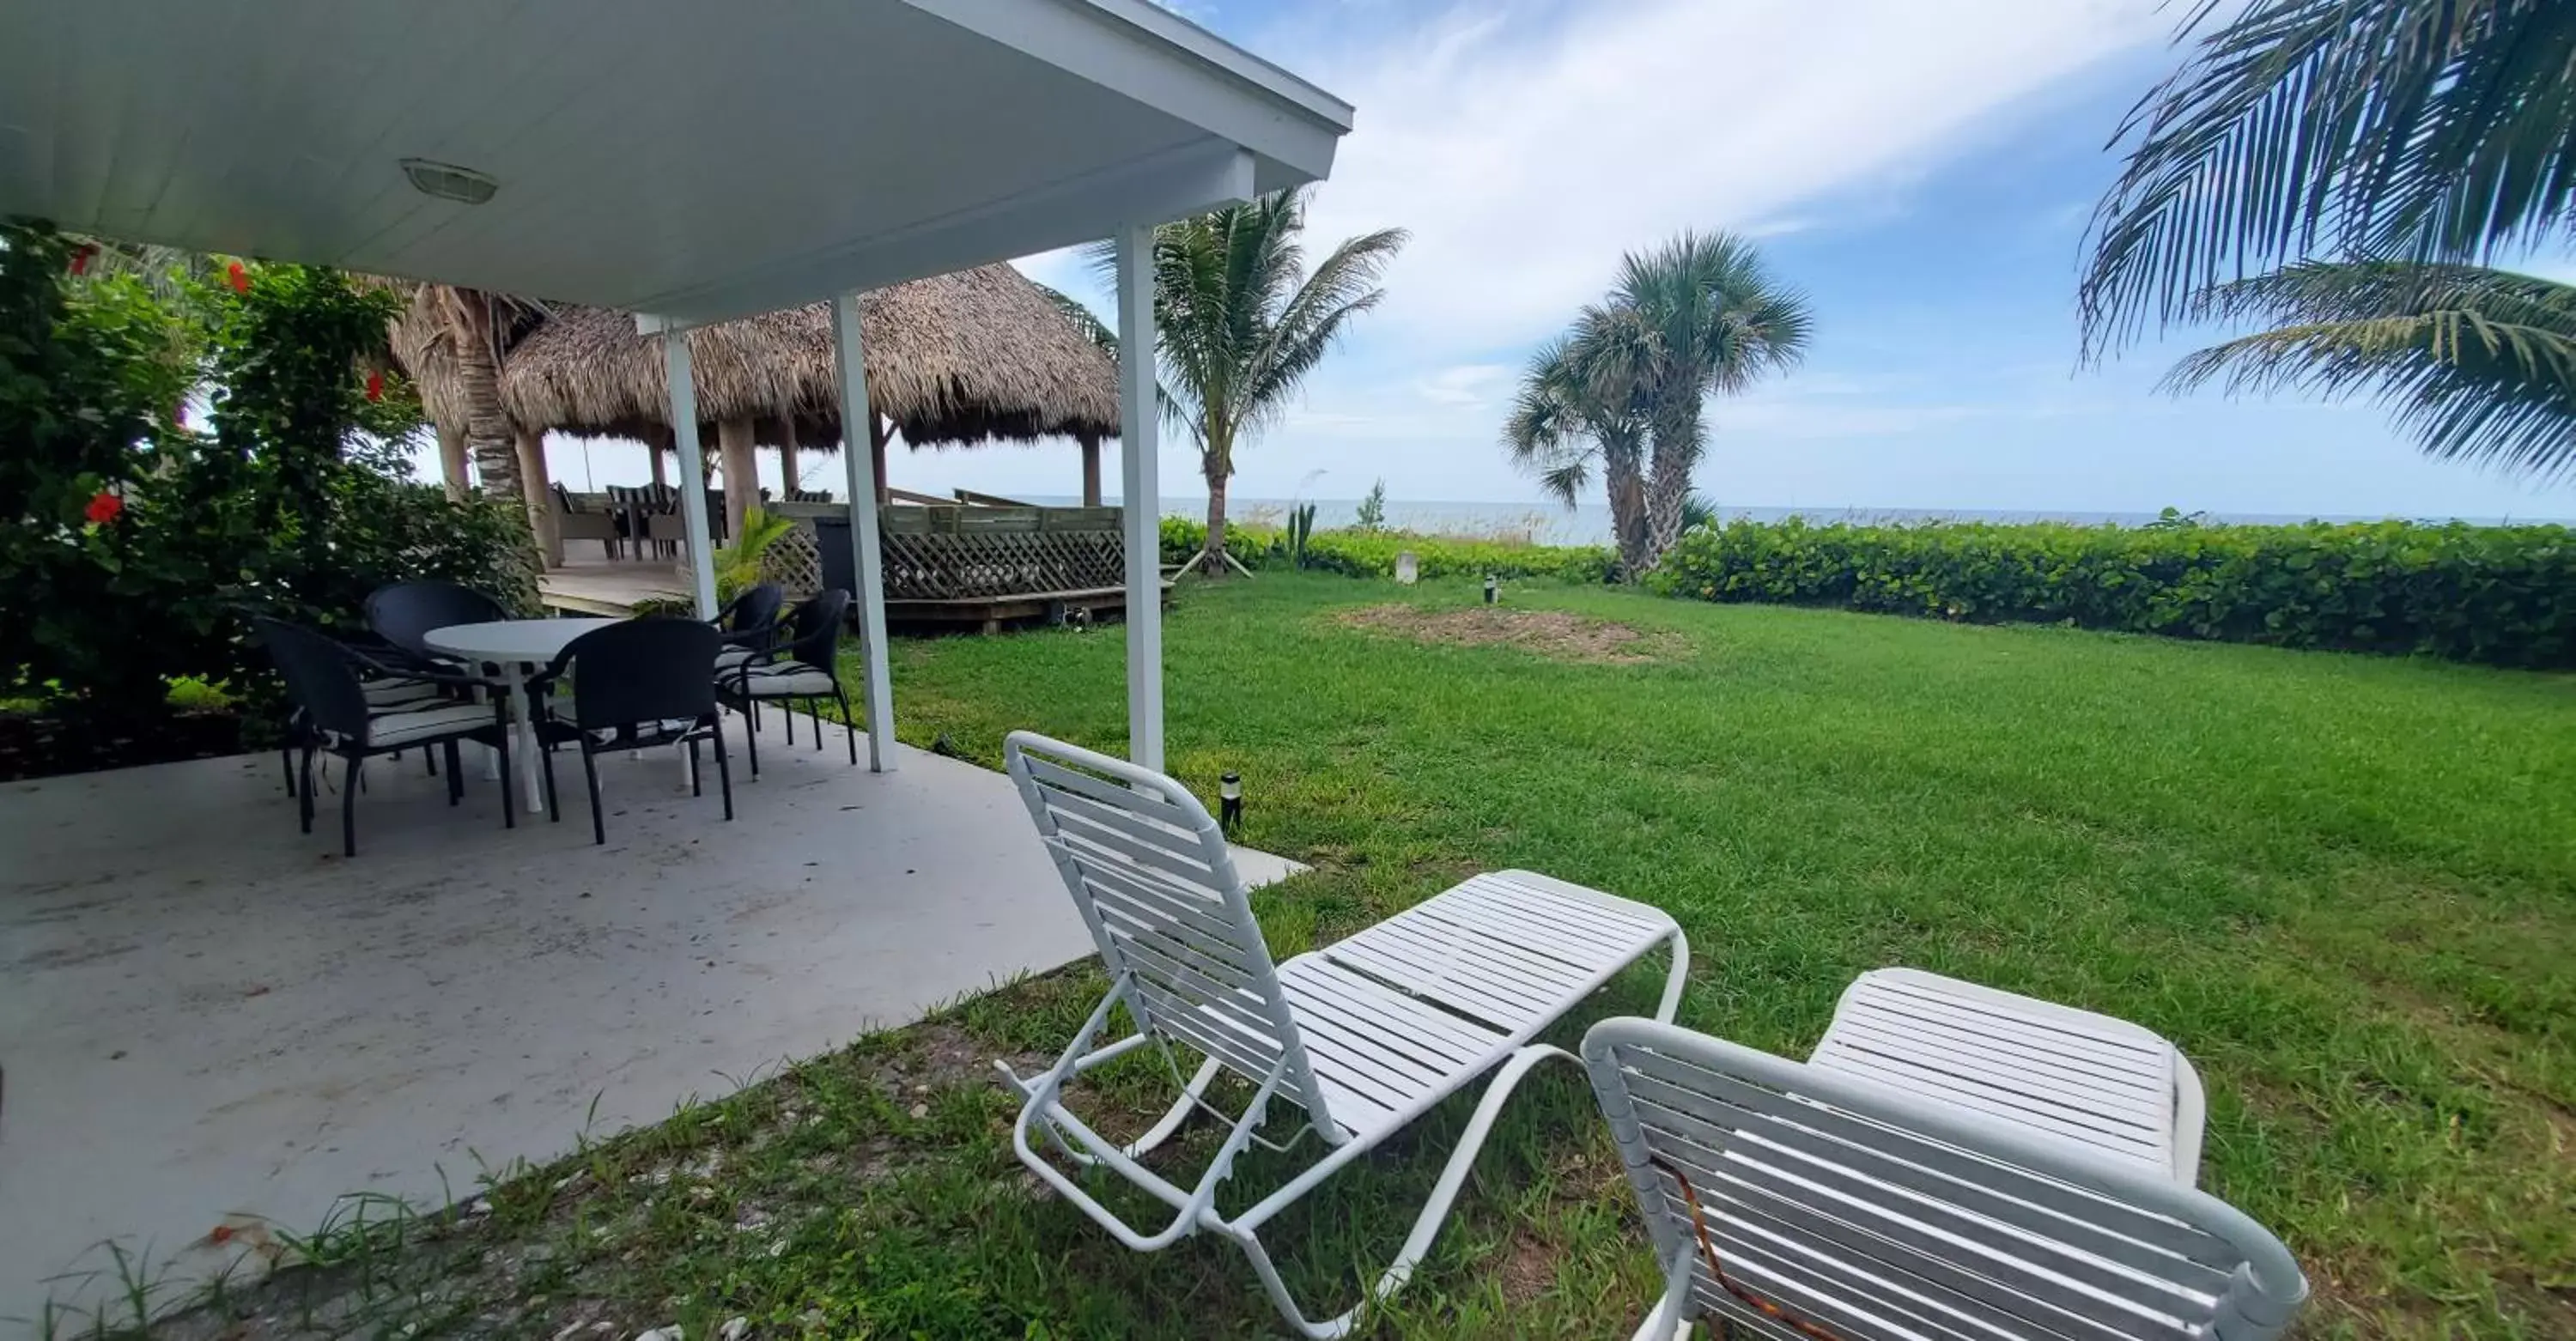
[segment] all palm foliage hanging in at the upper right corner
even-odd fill
[[[2432,456],[2568,468],[2566,291],[2486,265],[2576,224],[2571,69],[2576,5],[2254,0],[2120,126],[2084,355],[2267,317],[2166,384],[2375,386]]]

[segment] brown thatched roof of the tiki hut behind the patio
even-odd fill
[[[868,404],[914,448],[1118,435],[1115,363],[1010,265],[866,293],[860,340]],[[824,304],[693,329],[688,350],[708,425],[750,420],[768,443],[793,414],[799,445],[842,435]],[[659,337],[623,311],[556,306],[510,350],[502,404],[528,427],[662,440]]]

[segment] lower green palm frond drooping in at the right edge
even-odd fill
[[[2375,391],[2445,461],[2576,466],[2576,288],[2478,265],[2298,263],[2223,283],[2192,314],[2277,322],[2184,358],[2177,391]]]

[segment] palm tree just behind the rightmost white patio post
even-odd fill
[[[1404,229],[1378,229],[1301,273],[1303,229],[1303,188],[1154,229],[1154,342],[1167,412],[1198,440],[1208,481],[1208,571],[1226,556],[1234,448],[1285,409],[1352,317],[1386,299],[1378,275],[1404,247]],[[1115,250],[1092,263],[1113,275]]]

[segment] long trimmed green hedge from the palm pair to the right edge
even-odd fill
[[[1649,587],[1695,600],[2576,667],[2576,533],[2561,525],[1734,523],[1685,535]]]

